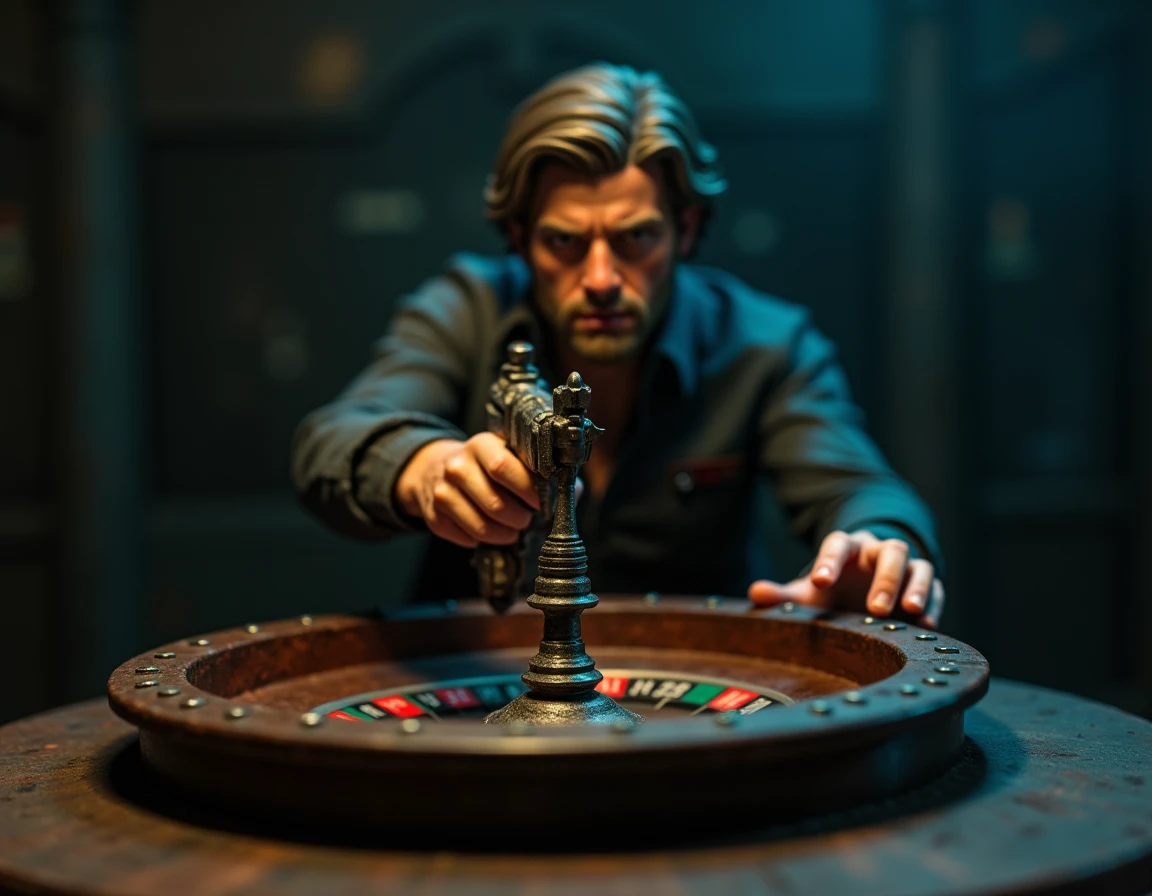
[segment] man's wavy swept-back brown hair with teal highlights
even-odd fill
[[[664,164],[677,217],[699,205],[706,219],[727,183],[715,149],[700,138],[692,113],[664,79],[605,62],[574,69],[513,112],[484,190],[487,218],[502,231],[508,221],[523,220],[545,161],[607,175],[651,160]]]

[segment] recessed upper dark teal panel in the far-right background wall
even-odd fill
[[[1117,124],[1105,61],[980,122],[986,476],[1120,472]]]

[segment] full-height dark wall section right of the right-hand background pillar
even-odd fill
[[[1070,14],[1067,3],[1026,6]],[[968,637],[999,674],[1146,709],[1131,689],[1140,647],[1130,632],[1145,602],[1134,592],[1134,533],[1147,511],[1132,489],[1140,337],[1128,279],[1129,253],[1143,248],[1129,230],[1124,165],[1127,116],[1139,113],[1126,107],[1132,46],[1109,36],[1121,6],[1082,6],[1112,25],[1085,22],[1075,40],[1069,25],[1062,44],[1045,45],[1054,20],[1037,20],[1040,36],[1024,33],[1017,63],[970,60],[985,68],[970,71],[965,498],[983,630]],[[1003,33],[983,37],[980,52],[1000,40],[996,52],[1011,55]]]

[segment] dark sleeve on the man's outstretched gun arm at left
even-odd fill
[[[452,273],[406,297],[369,366],[293,439],[291,474],[304,506],[354,538],[384,539],[419,524],[393,500],[401,470],[437,439],[464,439],[469,371],[483,327],[475,296]]]

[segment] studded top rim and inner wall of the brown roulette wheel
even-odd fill
[[[738,734],[732,732],[732,743],[761,738],[763,747],[771,745],[780,755],[819,749],[834,738],[862,736],[872,727],[963,708],[980,698],[988,676],[987,661],[979,652],[947,636],[903,623],[884,624],[858,614],[818,614],[806,607],[763,610],[750,608],[744,600],[718,607],[690,598],[664,599],[652,607],[638,597],[613,597],[589,614],[584,624],[586,639],[597,648],[695,650],[771,658],[857,685],[864,699],[851,707],[838,707],[827,716],[813,715],[809,707],[787,707],[774,712],[771,722],[763,721],[766,716],[751,716],[742,722]],[[523,647],[526,656],[538,638],[539,616],[532,609],[514,607],[506,616],[493,616],[480,601],[463,602],[450,612],[423,610],[410,618],[283,620],[263,624],[255,632],[213,632],[141,654],[113,673],[108,696],[116,713],[144,730],[244,741],[250,750],[260,745],[303,750],[311,745],[317,752],[349,754],[492,754],[513,749],[498,727],[449,721],[438,727],[439,734],[416,743],[404,737],[381,738],[386,730],[381,726],[371,736],[350,726],[321,727],[305,735],[298,713],[280,706],[249,706],[253,712],[242,726],[229,721],[226,711],[244,705],[243,694],[278,683],[314,681],[354,666],[391,662],[403,668],[432,656],[511,647]],[[952,674],[940,674],[942,666]],[[138,671],[142,669],[146,671]],[[147,671],[151,669],[156,671]],[[938,683],[925,684],[925,678]],[[145,682],[154,684],[142,688]],[[916,692],[901,693],[902,685]],[[173,696],[176,699],[161,696],[167,688],[180,690]],[[339,696],[316,691],[308,699],[314,705]],[[182,706],[190,697],[204,700],[191,712]],[[665,745],[668,738],[683,745],[706,745],[715,741],[715,732],[711,726],[675,722],[661,724],[659,737]],[[613,738],[594,728],[541,730],[531,741],[516,742],[520,746],[513,750],[524,757],[636,752],[652,746],[650,738],[657,735],[643,729],[632,739]]]

